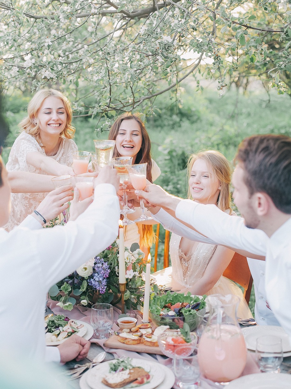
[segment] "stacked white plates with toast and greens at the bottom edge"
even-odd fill
[[[113,359],[100,363],[88,370],[80,380],[81,389],[133,388],[143,389],[159,387],[170,372],[171,386],[175,377],[165,366],[138,358]],[[170,389],[168,386],[167,389]]]

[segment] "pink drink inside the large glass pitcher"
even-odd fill
[[[229,382],[238,378],[246,365],[246,357],[246,343],[238,327],[214,324],[203,332],[199,342],[198,362],[206,378],[214,382]]]

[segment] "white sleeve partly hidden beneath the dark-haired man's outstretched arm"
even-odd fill
[[[185,226],[185,224],[175,219],[175,217],[168,214],[168,212],[166,212],[162,208],[156,214],[152,214],[152,217],[156,221],[161,223],[165,230],[169,230],[174,234],[179,235],[180,237],[187,238],[189,240],[194,240],[195,242],[216,244],[216,242],[214,242],[213,240],[206,238],[198,232]]]

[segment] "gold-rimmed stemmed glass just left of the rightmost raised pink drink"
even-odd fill
[[[127,218],[127,214],[132,214],[135,212],[134,209],[130,209],[127,205],[127,194],[126,194],[126,184],[124,183],[125,181],[129,181],[129,174],[128,174],[128,168],[127,166],[131,166],[132,164],[132,157],[116,157],[113,158],[113,165],[114,168],[117,171],[117,174],[120,176],[120,183],[122,184],[122,189],[123,189],[123,202],[124,206],[123,209],[121,209],[120,213],[124,215],[124,219],[122,221],[123,225],[128,225],[128,224],[133,224],[134,222],[132,220],[129,220]]]

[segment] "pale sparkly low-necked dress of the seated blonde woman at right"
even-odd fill
[[[172,233],[170,240],[171,267],[160,270],[158,277],[154,277],[157,284],[172,286],[173,289],[180,289],[179,293],[186,293],[191,287],[203,277],[210,259],[212,258],[217,245],[198,243],[194,252],[185,255],[180,249],[181,237]],[[163,275],[163,278],[162,278]],[[237,316],[242,318],[253,317],[248,304],[244,299],[241,289],[229,279],[221,276],[215,286],[207,293],[209,294],[234,294],[240,298]]]

